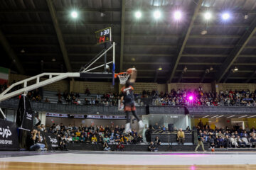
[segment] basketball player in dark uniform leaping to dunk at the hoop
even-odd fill
[[[134,115],[134,117],[137,119],[139,123],[139,134],[142,134],[144,123],[142,123],[142,120],[140,120],[137,114],[135,113],[136,108],[135,108],[135,101],[134,101],[133,84],[135,83],[135,80],[137,77],[137,70],[135,68],[127,69],[127,73],[130,74],[130,77],[126,81],[125,86],[123,86],[121,89],[122,91],[121,105],[123,105],[123,102],[124,102],[124,112],[127,115],[127,123],[125,124],[124,133],[131,132],[129,112],[132,111],[132,115]]]

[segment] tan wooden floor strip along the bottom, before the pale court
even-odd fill
[[[100,162],[100,160],[99,160]],[[90,170],[95,170],[95,169],[107,169],[107,170],[112,170],[112,169],[125,169],[125,170],[130,170],[130,169],[177,169],[177,170],[185,170],[185,169],[190,169],[190,170],[205,170],[205,169],[210,169],[210,170],[252,170],[256,169],[256,164],[255,165],[249,165],[249,164],[244,164],[244,165],[153,165],[153,166],[145,166],[145,165],[95,165],[95,164],[53,164],[53,163],[35,163],[35,162],[0,162],[0,169],[1,170],[44,170],[44,169],[54,169],[54,170],[78,170],[78,169],[90,169]]]

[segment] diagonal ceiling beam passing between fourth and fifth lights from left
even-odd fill
[[[173,62],[171,63],[171,75],[169,77],[169,82],[174,78],[174,74],[176,72],[176,68],[178,67],[178,62],[181,59],[181,55],[183,53],[183,50],[185,49],[186,42],[188,40],[189,34],[191,33],[191,30],[193,28],[193,23],[196,20],[196,16],[199,12],[199,9],[202,6],[203,0],[198,0],[198,4],[196,5],[195,11],[193,12],[193,16],[191,18],[191,22],[189,23],[188,28],[186,29],[186,34],[181,38],[182,44],[178,47],[178,55],[174,57]]]

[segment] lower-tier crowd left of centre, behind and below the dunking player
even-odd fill
[[[45,128],[38,126],[38,130],[44,131]],[[47,132],[53,133],[60,137],[60,141],[66,143],[85,143],[90,145],[102,145],[104,150],[110,150],[109,145],[117,145],[117,150],[122,151],[124,145],[139,145],[143,142],[142,135],[136,130],[132,130],[129,134],[123,133],[124,126],[119,125],[74,125],[65,126],[63,123],[53,125],[48,128]]]

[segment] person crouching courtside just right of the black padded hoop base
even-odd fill
[[[40,135],[40,131],[31,130],[31,134],[28,135],[27,146],[31,151],[43,151],[47,150],[46,145],[41,143],[43,141],[43,137]]]

